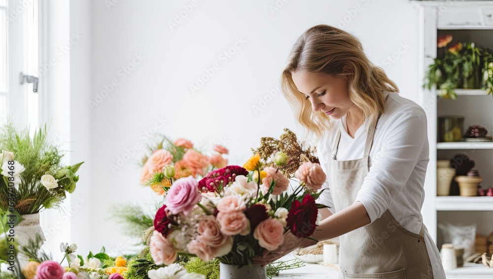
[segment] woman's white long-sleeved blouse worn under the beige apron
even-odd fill
[[[367,122],[358,128],[352,138],[348,134],[344,116],[335,121],[332,130],[321,137],[317,144],[317,156],[327,176],[330,176],[327,173],[328,162],[337,131],[341,130],[337,159],[359,159],[363,157]],[[428,155],[427,123],[423,108],[398,93],[389,93],[370,151],[370,171],[355,200],[364,205],[371,222],[388,209],[404,228],[420,233]],[[325,190],[318,202],[329,206],[329,211],[335,213],[328,180],[322,189]],[[424,238],[434,279],[445,279],[440,254],[426,228]]]

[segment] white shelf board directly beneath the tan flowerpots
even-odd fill
[[[493,197],[436,197],[435,208],[438,211],[493,211]]]

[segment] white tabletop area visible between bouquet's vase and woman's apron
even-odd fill
[[[292,253],[285,255],[281,258],[283,261],[294,259]],[[338,279],[339,266],[334,267],[324,266],[322,264],[309,264],[305,263],[305,266],[295,269],[289,269],[282,271],[279,276],[273,278],[330,278]]]

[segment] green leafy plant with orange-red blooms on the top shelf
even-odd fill
[[[473,42],[446,46],[451,35],[438,37],[438,55],[429,65],[424,88],[436,86],[443,98],[456,99],[456,89],[485,89],[493,93],[493,51],[476,47]]]

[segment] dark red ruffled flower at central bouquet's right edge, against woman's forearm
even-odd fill
[[[315,231],[317,214],[315,199],[310,194],[306,194],[301,203],[295,200],[291,205],[286,219],[287,227],[298,238],[311,236]]]

